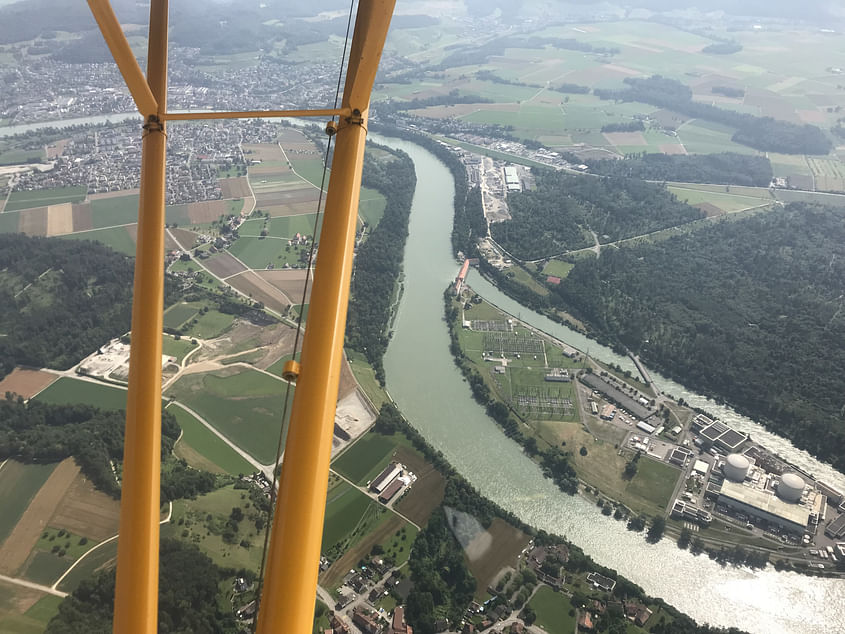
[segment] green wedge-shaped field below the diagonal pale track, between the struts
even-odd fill
[[[167,411],[176,417],[176,422],[182,428],[182,438],[173,451],[188,464],[212,473],[230,475],[255,471],[252,464],[211,433],[196,417],[182,409],[179,403],[171,405]]]

